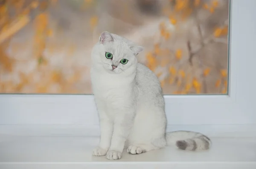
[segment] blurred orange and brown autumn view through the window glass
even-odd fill
[[[102,31],[145,50],[163,93],[227,94],[229,0],[0,0],[0,93],[91,94]]]

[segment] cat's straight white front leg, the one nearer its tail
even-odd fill
[[[116,114],[111,146],[107,152],[107,158],[109,160],[117,160],[121,158],[125,141],[133,124],[133,116],[134,112],[131,110],[126,113],[121,112]]]

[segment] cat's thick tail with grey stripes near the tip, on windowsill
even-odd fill
[[[168,145],[176,145],[179,149],[189,151],[207,150],[212,145],[207,136],[189,131],[168,132],[166,141]]]

